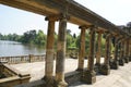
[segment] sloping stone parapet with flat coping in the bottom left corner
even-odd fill
[[[29,82],[29,74],[20,73],[10,65],[0,63],[0,87],[14,87]],[[3,75],[3,76],[2,76]]]

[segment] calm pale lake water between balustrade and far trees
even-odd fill
[[[0,57],[45,54],[45,48],[23,45],[16,41],[0,40]]]

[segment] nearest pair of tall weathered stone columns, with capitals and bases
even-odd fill
[[[46,82],[46,87],[68,87],[68,84],[64,82],[67,20],[68,17],[66,14],[46,17],[46,21],[48,21],[46,66],[44,77]],[[56,59],[56,74],[53,77],[55,21],[59,21],[59,33]]]

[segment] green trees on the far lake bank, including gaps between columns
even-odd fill
[[[55,48],[57,48],[57,39],[58,35],[55,33]],[[2,35],[0,34],[0,40],[11,40],[19,41],[22,44],[31,44],[46,47],[47,35],[44,34],[43,30],[36,32],[35,29],[25,32],[23,35],[17,34],[9,34]],[[75,34],[71,35],[71,30],[67,29],[67,49],[79,49],[80,48],[80,35]],[[111,45],[112,47],[112,45]],[[88,52],[90,48],[90,34],[88,30],[85,34],[85,50]],[[114,49],[114,48],[112,48]],[[97,50],[97,35],[96,35],[96,50]],[[105,35],[102,38],[102,51],[105,51]]]

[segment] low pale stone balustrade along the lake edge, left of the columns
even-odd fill
[[[17,55],[17,57],[0,57],[0,62],[7,62],[9,64],[17,64],[17,63],[31,63],[31,62],[39,62],[45,60],[46,54],[41,55]]]

